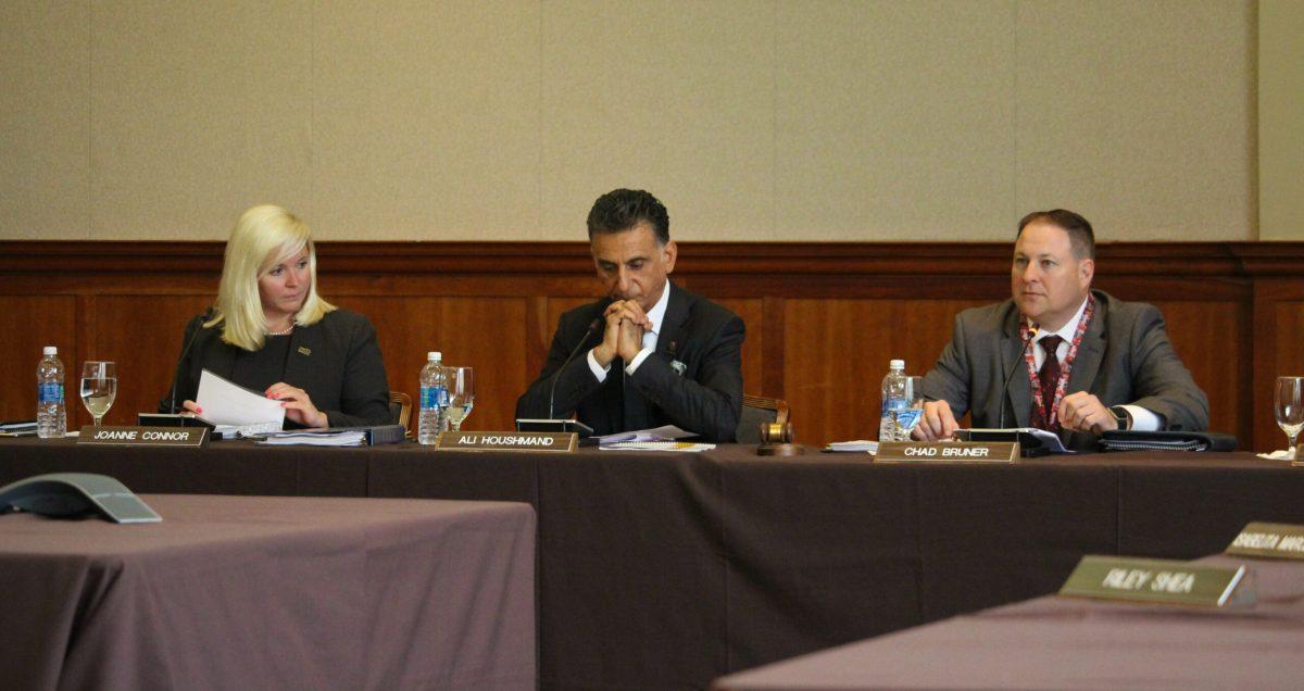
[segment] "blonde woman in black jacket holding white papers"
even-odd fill
[[[205,369],[280,400],[287,426],[390,422],[389,382],[376,329],[317,295],[308,224],[279,206],[244,213],[227,241],[218,300],[185,330],[172,402],[194,403]]]

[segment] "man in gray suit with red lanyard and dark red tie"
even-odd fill
[[[1174,352],[1153,305],[1091,289],[1095,236],[1072,211],[1018,223],[1013,297],[956,317],[923,379],[917,439],[974,428],[1035,426],[1090,450],[1112,429],[1204,430],[1209,400]]]

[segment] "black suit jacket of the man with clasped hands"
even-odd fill
[[[605,382],[588,368],[588,351],[601,343],[601,326],[588,332],[609,304],[599,300],[562,314],[542,373],[516,400],[516,417],[549,417],[548,394],[557,378],[553,417],[576,415],[597,434],[678,425],[708,441],[729,442],[742,412],[742,319],[672,282],[656,352],[625,374],[619,357]],[[561,370],[566,356],[585,346]],[[683,364],[683,374],[672,362]]]

